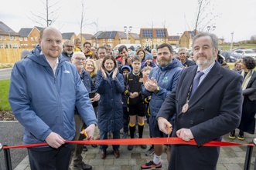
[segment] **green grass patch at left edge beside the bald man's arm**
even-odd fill
[[[11,110],[8,101],[10,80],[0,80],[0,110]]]

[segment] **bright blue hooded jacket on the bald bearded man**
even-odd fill
[[[94,108],[75,65],[61,55],[56,74],[40,55],[37,46],[26,60],[12,69],[9,103],[15,118],[24,126],[25,144],[46,142],[55,132],[66,140],[75,135],[74,108],[87,125],[97,125]]]

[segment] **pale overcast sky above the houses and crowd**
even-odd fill
[[[205,1],[205,0],[204,0]],[[46,26],[32,22],[32,13],[41,15],[46,12],[43,3],[46,0],[9,0],[0,5],[0,21],[15,32],[20,28]],[[124,31],[124,26],[132,26],[131,32],[139,34],[140,28],[167,28],[169,35],[178,35],[195,28],[197,0],[84,0],[87,25],[83,33],[95,34],[97,31]],[[56,4],[56,5],[53,5]],[[53,26],[60,32],[80,33],[81,0],[49,0],[49,8],[57,9],[58,14]],[[210,0],[210,5],[202,11],[200,29],[215,25],[210,30],[226,42],[250,39],[256,35],[256,1],[255,0]],[[43,16],[43,15],[41,15]],[[91,23],[97,22],[97,26]]]

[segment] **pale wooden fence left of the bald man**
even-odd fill
[[[23,49],[20,48],[0,48],[0,64],[14,64],[21,59]],[[31,51],[32,49],[28,49]]]

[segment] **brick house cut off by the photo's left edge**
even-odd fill
[[[19,34],[0,22],[0,48],[19,48]]]

